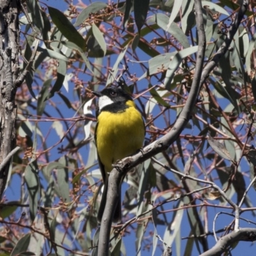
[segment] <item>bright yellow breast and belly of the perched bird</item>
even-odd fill
[[[134,154],[143,146],[145,125],[134,102],[118,113],[102,111],[98,116],[97,151],[105,172],[111,172],[118,159]]]

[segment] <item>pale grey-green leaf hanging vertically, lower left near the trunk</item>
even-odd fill
[[[25,182],[28,187],[30,218],[31,221],[34,221],[37,212],[38,198],[40,196],[40,182],[36,161],[32,161],[26,167]]]

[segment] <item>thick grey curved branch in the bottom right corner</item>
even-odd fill
[[[221,239],[207,252],[200,256],[218,256],[225,252],[228,247],[239,241],[252,242],[256,241],[256,228],[241,228],[239,231],[233,231]]]

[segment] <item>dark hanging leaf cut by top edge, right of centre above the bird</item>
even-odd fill
[[[140,29],[145,23],[148,13],[148,5],[149,0],[134,0],[133,8],[134,8],[134,19],[136,26],[138,28],[138,32],[140,33]]]

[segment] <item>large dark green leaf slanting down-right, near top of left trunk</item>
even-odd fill
[[[67,19],[67,17],[58,9],[48,6],[49,14],[52,18],[52,22],[60,29],[63,36],[70,42],[78,45],[83,51],[86,48],[84,38]]]

